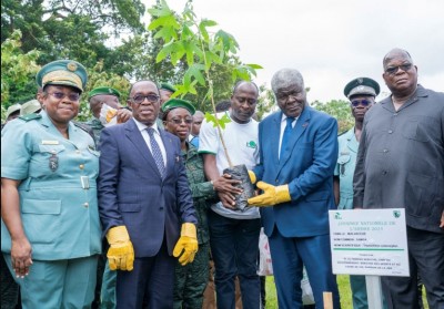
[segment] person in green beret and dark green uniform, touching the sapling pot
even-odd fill
[[[199,251],[194,261],[175,266],[174,280],[174,309],[202,308],[203,292],[209,278],[210,262],[210,233],[206,220],[208,199],[216,197],[215,190],[221,185],[231,185],[231,179],[220,177],[213,182],[205,179],[203,159],[198,150],[189,142],[191,125],[193,123],[194,106],[180,99],[171,99],[162,105],[163,125],[165,130],[181,141],[181,155],[186,167],[186,176],[193,196],[193,204],[198,216]]]

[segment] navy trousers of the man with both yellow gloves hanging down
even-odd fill
[[[175,260],[163,241],[155,256],[137,257],[133,270],[118,270],[117,309],[173,308]]]

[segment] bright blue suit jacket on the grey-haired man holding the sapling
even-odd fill
[[[260,123],[261,162],[254,173],[271,185],[287,184],[291,202],[261,208],[264,231],[271,236],[278,226],[284,237],[329,234],[329,209],[335,208],[336,120],[305,106],[293,127],[289,151],[279,159],[281,120],[280,111]]]

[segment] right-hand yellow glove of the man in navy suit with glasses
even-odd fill
[[[195,236],[195,225],[191,223],[182,224],[181,237],[174,246],[173,256],[179,257],[181,265],[186,265],[194,260],[198,251],[198,237]]]

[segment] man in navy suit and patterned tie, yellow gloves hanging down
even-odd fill
[[[172,308],[171,255],[182,265],[194,259],[198,220],[180,141],[157,126],[155,83],[134,83],[128,105],[133,117],[102,131],[98,184],[107,256],[118,270],[117,308]]]

